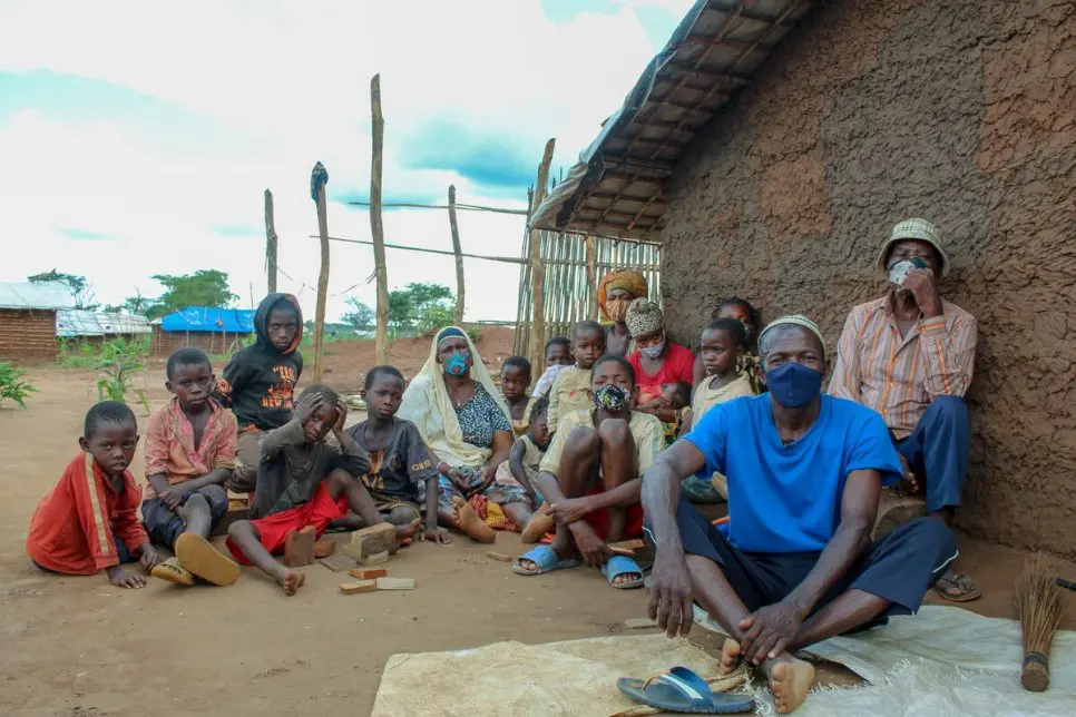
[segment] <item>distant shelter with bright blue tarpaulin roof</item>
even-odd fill
[[[253,334],[253,308],[187,306],[154,322],[153,354],[167,356],[183,346],[227,354],[252,340]]]

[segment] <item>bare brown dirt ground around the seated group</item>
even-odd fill
[[[428,343],[421,343],[417,355],[401,356],[409,375],[424,361]],[[511,344],[492,344],[487,358],[497,363]],[[334,381],[338,387],[353,387],[369,367],[355,357],[330,356],[333,379],[355,376]],[[77,452],[96,390],[88,371],[42,366],[30,379],[40,393],[29,407],[0,409],[0,714],[363,715],[393,654],[610,635],[627,631],[625,618],[645,615],[644,591],[613,590],[586,569],[513,576],[485,557],[486,546],[463,538],[448,547],[415,544],[391,561],[391,574],[415,579],[412,592],[343,596],[340,573],[321,566],[306,568],[306,587],[293,598],[253,569],[229,588],[151,581],[134,591],[104,576],[47,576],[26,558],[27,526]],[[160,405],[163,367],[151,366],[140,381],[151,405]],[[136,477],[143,464],[139,455]],[[496,549],[515,554],[520,543],[501,533]],[[969,607],[1011,617],[1023,554],[968,540],[961,550],[961,568],[986,593]],[[1067,577],[1076,578],[1069,568]],[[1067,627],[1076,627],[1076,616]]]

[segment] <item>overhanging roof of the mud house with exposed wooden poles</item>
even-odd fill
[[[665,181],[684,148],[810,8],[698,0],[530,226],[658,239]]]

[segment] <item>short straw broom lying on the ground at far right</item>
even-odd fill
[[[1020,684],[1033,693],[1045,691],[1050,684],[1050,642],[1063,611],[1055,580],[1049,560],[1041,554],[1028,556],[1016,580],[1016,613],[1024,633]]]

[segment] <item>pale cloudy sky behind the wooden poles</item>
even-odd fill
[[[691,0],[0,0],[0,281],[57,268],[102,303],[154,274],[216,268],[265,293],[263,190],[281,291],[313,315],[310,170],[329,229],[370,238],[370,78],[381,73],[384,200],[526,208],[546,139],[574,164]],[[460,213],[464,252],[519,256],[524,218]],[[451,248],[447,213],[392,209],[385,240]],[[334,242],[330,318],[372,305],[369,246]],[[513,320],[518,271],[467,259],[470,321]],[[454,287],[451,257],[388,251],[389,287]]]

